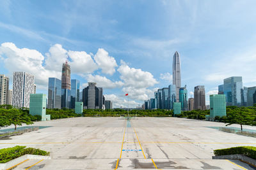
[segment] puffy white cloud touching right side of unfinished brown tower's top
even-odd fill
[[[93,73],[98,69],[91,55],[86,52],[68,51],[68,56],[72,60],[70,62],[72,73]]]

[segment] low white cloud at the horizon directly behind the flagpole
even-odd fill
[[[128,100],[124,97],[118,97],[115,94],[104,94],[105,100],[110,100],[113,103],[113,108],[128,108]],[[141,105],[136,101],[129,100],[129,108],[136,108]]]

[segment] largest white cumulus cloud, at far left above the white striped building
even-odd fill
[[[50,71],[42,66],[44,56],[42,53],[28,48],[17,48],[14,43],[3,43],[0,46],[0,55],[4,66],[10,73],[26,71],[35,75],[35,83],[47,89],[49,77],[60,78],[60,71]]]

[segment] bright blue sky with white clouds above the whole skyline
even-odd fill
[[[172,84],[180,53],[181,84],[218,93],[224,78],[256,86],[256,1],[0,1],[0,74],[35,75],[47,94],[65,60],[80,89],[94,81],[113,106],[136,107]],[[129,96],[125,96],[125,94]]]

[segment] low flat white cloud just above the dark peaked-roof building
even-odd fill
[[[105,76],[99,76],[99,75],[93,76],[92,74],[88,74],[86,78],[88,82],[97,83],[97,87],[102,87],[106,89],[114,89],[114,88],[122,87],[122,85],[124,85],[122,81],[113,82],[108,78],[106,78]],[[84,87],[86,86],[87,86],[87,83],[84,83]]]

